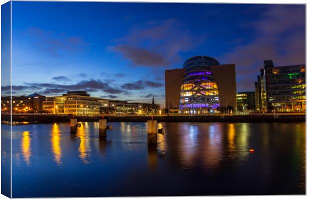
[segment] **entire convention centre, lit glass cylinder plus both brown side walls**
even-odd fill
[[[172,111],[196,114],[219,106],[236,109],[235,65],[195,56],[184,62],[183,69],[166,70],[165,104]]]

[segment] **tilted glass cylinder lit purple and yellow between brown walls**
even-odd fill
[[[183,64],[185,73],[180,91],[180,109],[219,107],[219,91],[210,66],[220,65],[207,56],[195,56]]]

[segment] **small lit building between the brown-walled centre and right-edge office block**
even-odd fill
[[[255,110],[255,92],[239,92],[236,95],[237,111]]]

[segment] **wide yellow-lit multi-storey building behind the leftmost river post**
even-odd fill
[[[43,109],[54,114],[98,115],[99,99],[90,97],[85,91],[71,91],[62,96],[46,97]]]

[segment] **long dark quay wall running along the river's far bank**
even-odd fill
[[[27,114],[17,113],[12,115],[13,123],[16,122],[69,122],[72,115],[65,114]],[[98,121],[102,116],[74,116],[77,121]],[[116,116],[104,115],[109,122],[146,122],[151,120],[151,115]],[[306,114],[301,113],[275,113],[275,114],[248,114],[248,115],[154,115],[158,122],[305,122]],[[1,121],[10,121],[10,114],[2,113]]]

